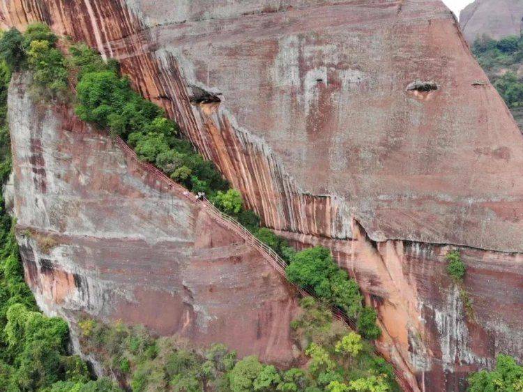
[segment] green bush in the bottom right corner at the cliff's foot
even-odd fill
[[[523,366],[511,356],[500,354],[492,371],[480,370],[469,377],[469,392],[521,392]]]

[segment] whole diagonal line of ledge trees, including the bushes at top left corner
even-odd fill
[[[40,96],[60,99],[65,96],[68,75],[75,75],[75,110],[80,119],[108,128],[112,135],[123,137],[140,159],[155,164],[192,192],[205,193],[220,210],[238,219],[290,263],[287,276],[291,282],[311,287],[319,299],[358,319],[366,338],[379,338],[377,313],[363,308],[358,284],[333,262],[331,252],[317,247],[296,253],[287,241],[260,228],[256,214],[245,209],[241,193],[229,188],[213,163],[181,139],[177,124],[158,105],[132,90],[128,78],[119,74],[118,63],[106,63],[83,43],[71,46],[66,58],[55,47],[56,36],[43,24],[32,25],[23,36],[16,30],[7,35],[9,39],[0,41],[0,53],[11,59],[13,69],[28,67],[33,72]],[[17,52],[20,47],[25,56]]]

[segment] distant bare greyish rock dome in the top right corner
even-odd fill
[[[460,13],[460,25],[469,43],[486,34],[499,40],[522,32],[523,2],[476,0]]]

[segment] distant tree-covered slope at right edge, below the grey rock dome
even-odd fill
[[[485,35],[474,41],[472,52],[523,129],[523,38]]]

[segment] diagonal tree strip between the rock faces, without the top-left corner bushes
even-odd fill
[[[303,287],[312,287],[321,299],[360,317],[361,333],[367,338],[381,334],[376,326],[376,313],[362,309],[362,296],[356,281],[334,264],[325,248],[296,252],[287,242],[268,229],[257,227],[259,220],[248,213],[241,193],[230,189],[213,164],[203,160],[188,142],[179,138],[175,123],[153,103],[131,89],[126,77],[121,77],[114,63],[105,64],[89,48],[75,46],[70,63],[79,75],[76,112],[85,120],[108,127],[127,139],[142,160],[156,164],[172,179],[183,183],[193,192],[204,192],[225,213],[245,224],[258,239],[267,243],[287,262],[287,276]],[[374,318],[372,318],[374,317]]]

